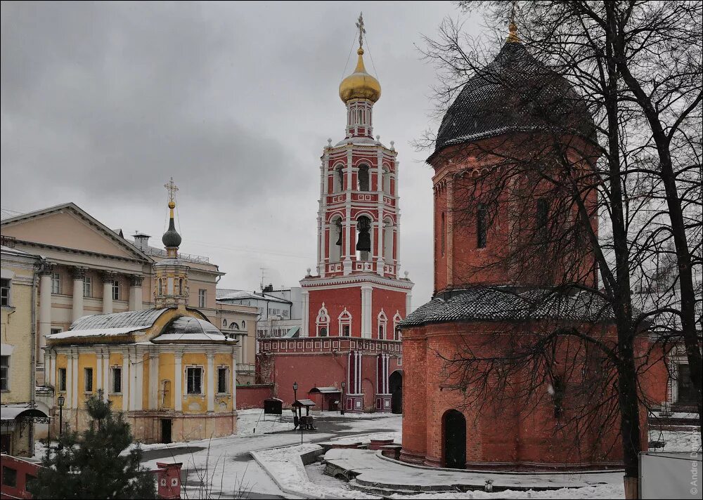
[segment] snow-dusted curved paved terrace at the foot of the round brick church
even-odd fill
[[[350,485],[367,493],[441,492],[484,489],[493,480],[493,489],[559,489],[616,484],[623,472],[593,473],[496,473],[482,471],[448,471],[418,467],[381,457],[367,449],[330,449],[325,462],[342,471],[352,471],[356,478]]]

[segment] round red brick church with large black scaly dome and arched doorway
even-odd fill
[[[551,164],[539,162],[532,183],[527,163],[555,140],[566,163],[587,171],[597,158],[588,146],[593,119],[568,81],[527,51],[512,23],[484,73],[469,79],[447,110],[427,160],[434,168],[434,297],[400,325],[404,384],[413,388],[403,400],[401,460],[512,470],[616,464],[617,431],[600,426],[600,414],[574,424],[591,405],[581,387],[591,380],[592,350],[567,340],[555,343],[554,364],[546,369],[501,364],[561,328],[614,341],[612,309],[593,293],[595,265],[585,244],[556,242],[565,246],[553,254],[543,239],[546,213],[569,206],[570,198],[546,192],[537,174],[546,177],[544,165]],[[511,162],[523,160],[520,177],[508,178]],[[510,190],[495,195],[501,183]],[[486,192],[495,196],[490,205],[481,202]],[[594,226],[595,197],[592,190],[584,199]],[[534,242],[534,250],[516,263],[511,248],[525,242]],[[560,288],[567,272],[573,286]],[[501,369],[513,371],[502,379]],[[527,393],[528,384],[538,389]]]

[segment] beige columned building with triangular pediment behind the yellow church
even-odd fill
[[[73,203],[6,218],[1,232],[15,249],[44,259],[37,279],[34,346],[39,386],[51,386],[44,373],[48,336],[67,331],[85,315],[154,306],[154,266],[167,254],[150,246],[148,235],[127,239]],[[256,308],[218,304],[215,289],[224,273],[207,257],[179,254],[179,258],[188,267],[186,305],[198,308],[209,322],[238,341],[237,381],[253,382]]]

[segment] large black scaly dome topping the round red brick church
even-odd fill
[[[435,151],[503,133],[538,130],[591,138],[593,118],[567,79],[532,57],[521,43],[508,42],[449,106]]]

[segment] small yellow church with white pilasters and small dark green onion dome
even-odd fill
[[[178,256],[175,186],[167,187],[169,229],[162,237],[167,256],[154,265],[154,308],[80,317],[67,331],[47,337],[47,382],[55,388],[52,435],[59,421],[84,430],[84,403],[93,394],[124,412],[141,442],[236,432],[238,341],[187,305],[188,265]]]

